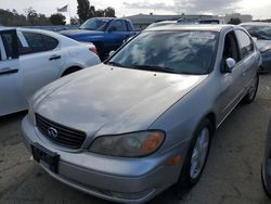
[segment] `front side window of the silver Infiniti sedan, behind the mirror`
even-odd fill
[[[232,58],[236,62],[240,62],[237,40],[233,31],[230,31],[229,34],[227,34],[224,38],[224,49],[223,49],[223,55],[222,55],[223,67],[225,66],[225,60],[229,58]]]

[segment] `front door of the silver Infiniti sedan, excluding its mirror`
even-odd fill
[[[225,60],[233,59],[236,64],[231,72],[227,72]],[[219,95],[219,115],[218,120],[223,120],[228,114],[236,106],[245,93],[245,84],[243,80],[244,62],[241,59],[240,47],[235,33],[229,31],[224,37],[223,54],[221,58],[220,74],[220,95]]]

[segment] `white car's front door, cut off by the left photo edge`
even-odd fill
[[[15,29],[0,31],[0,116],[27,107],[22,94],[22,69]]]

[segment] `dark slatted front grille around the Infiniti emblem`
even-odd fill
[[[51,141],[56,144],[63,145],[65,148],[79,149],[83,141],[86,140],[87,135],[83,131],[72,129],[63,125],[51,122],[39,114],[36,114],[36,124],[39,131],[46,136]],[[49,133],[49,129],[54,129],[57,131],[56,137]]]

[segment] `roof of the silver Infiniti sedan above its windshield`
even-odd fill
[[[145,30],[163,31],[163,30],[198,30],[198,31],[217,31],[220,33],[225,28],[235,28],[241,26],[228,25],[228,24],[171,24],[160,27],[147,28]]]

